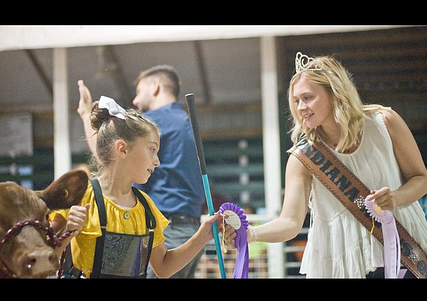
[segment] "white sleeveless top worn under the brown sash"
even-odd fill
[[[403,180],[391,138],[381,113],[369,116],[356,151],[343,154],[330,149],[370,190],[384,186],[395,190]],[[307,278],[365,278],[376,267],[384,267],[381,242],[315,176],[309,208],[311,223],[301,274]],[[393,215],[427,251],[427,221],[419,202],[395,207]]]

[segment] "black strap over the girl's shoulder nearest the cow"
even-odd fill
[[[99,278],[99,276],[101,276],[102,254],[104,253],[104,241],[105,241],[105,232],[106,232],[106,211],[105,211],[104,197],[102,196],[102,190],[101,190],[101,186],[99,185],[98,179],[92,178],[89,180],[90,180],[90,183],[92,183],[93,192],[95,195],[95,201],[97,202],[99,224],[101,225],[101,232],[102,232],[102,235],[100,237],[97,237],[92,273],[90,274],[90,278]]]

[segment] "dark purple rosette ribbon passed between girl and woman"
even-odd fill
[[[248,278],[249,270],[249,251],[248,237],[246,230],[248,229],[248,221],[244,215],[244,211],[236,204],[226,202],[219,208],[221,214],[226,214],[225,223],[235,228],[236,237],[235,244],[237,247],[237,257],[233,278]]]

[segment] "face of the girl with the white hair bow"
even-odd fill
[[[139,138],[130,148],[129,160],[133,162],[131,166],[135,183],[144,184],[153,174],[155,167],[160,165],[158,151],[160,137],[152,132],[147,137]]]

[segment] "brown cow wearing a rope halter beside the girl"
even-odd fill
[[[48,213],[79,204],[86,188],[87,174],[77,169],[45,190],[0,183],[0,278],[46,278],[59,270]]]

